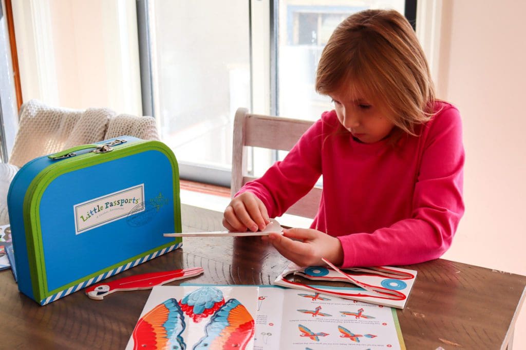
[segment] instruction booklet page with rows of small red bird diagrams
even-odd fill
[[[260,286],[255,350],[405,349],[395,309]]]

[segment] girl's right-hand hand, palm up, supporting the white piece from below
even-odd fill
[[[315,229],[291,228],[283,230],[283,235],[272,233],[262,239],[272,243],[282,256],[299,266],[323,266],[325,263],[321,258],[336,266],[343,263],[340,240]]]

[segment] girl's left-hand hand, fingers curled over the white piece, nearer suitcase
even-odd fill
[[[256,232],[270,223],[265,204],[251,192],[241,193],[230,201],[223,214],[223,226],[229,231]]]

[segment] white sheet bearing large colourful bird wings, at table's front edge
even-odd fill
[[[253,286],[154,287],[126,349],[252,349],[257,300]]]

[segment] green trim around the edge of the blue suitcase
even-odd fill
[[[134,146],[133,149],[129,149],[131,146]],[[115,152],[117,150],[118,152]],[[27,258],[29,262],[29,273],[31,274],[31,284],[35,300],[43,300],[47,298],[47,296],[53,294],[47,291],[47,275],[44,268],[45,259],[42,235],[36,234],[41,232],[41,223],[38,215],[38,207],[47,186],[49,186],[49,184],[53,182],[54,179],[56,179],[62,174],[76,171],[92,165],[113,161],[124,156],[138,154],[144,151],[159,151],[161,153],[164,153],[170,161],[172,168],[174,169],[172,174],[174,181],[174,219],[176,231],[181,232],[181,209],[179,203],[179,167],[177,165],[174,153],[169,149],[168,146],[159,141],[130,142],[116,148],[115,151],[104,154],[97,154],[96,156],[93,156],[93,154],[90,153],[86,153],[82,155],[77,155],[72,158],[64,159],[60,161],[58,165],[50,165],[42,169],[42,171],[37,176],[35,176],[31,184],[28,186],[26,195],[24,197],[23,212],[25,214],[24,225],[26,227],[25,236],[27,244]],[[93,160],[86,160],[85,158],[92,158]],[[32,232],[35,232],[35,234],[32,235]],[[180,238],[175,239],[174,241],[171,241],[166,245],[154,248],[152,251],[155,252],[157,250],[162,250],[166,247],[173,245],[174,243],[180,243],[181,241],[182,240]],[[137,259],[138,257],[146,256],[147,254],[148,252],[145,252],[143,254],[139,254],[134,258]],[[126,263],[128,263],[129,260],[126,260]],[[123,262],[119,262],[114,266],[118,267],[122,264]],[[111,267],[99,270],[95,273],[90,274],[90,276],[99,275],[100,273],[109,270],[111,270]],[[68,283],[67,288],[71,287],[71,285],[78,284],[78,281],[85,281],[88,279],[89,278],[84,278],[77,280],[77,283]],[[55,291],[60,291],[63,289],[63,287],[60,287],[58,289],[55,289]]]

